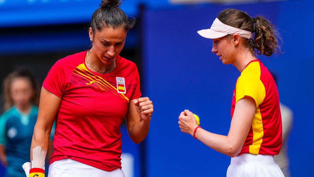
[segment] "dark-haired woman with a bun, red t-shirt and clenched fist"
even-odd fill
[[[58,60],[48,72],[31,145],[30,176],[44,173],[34,154],[46,150],[55,119],[51,177],[123,177],[120,125],[124,117],[133,142],[148,134],[152,101],[140,98],[136,65],[119,56],[127,31],[135,24],[120,4],[103,0],[89,27],[91,49]]]

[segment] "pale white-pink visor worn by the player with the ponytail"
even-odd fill
[[[216,18],[210,29],[197,31],[199,35],[208,39],[216,39],[219,37],[227,36],[228,34],[239,34],[241,37],[252,38],[251,31],[242,30],[229,25],[225,25],[218,18]]]

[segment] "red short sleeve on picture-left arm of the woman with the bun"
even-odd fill
[[[58,60],[50,69],[42,86],[51,93],[62,98],[63,92],[67,86],[66,74],[64,66],[62,67],[62,60]]]

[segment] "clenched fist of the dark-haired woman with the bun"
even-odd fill
[[[142,97],[134,99],[133,103],[141,119],[143,119],[144,121],[150,120],[150,117],[154,112],[153,102],[149,100],[148,97]]]

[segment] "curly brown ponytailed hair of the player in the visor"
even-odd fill
[[[252,55],[254,55],[256,51],[257,54],[266,56],[270,56],[274,52],[280,53],[278,39],[281,40],[281,38],[279,32],[276,27],[264,17],[257,16],[251,18],[246,12],[241,10],[225,9],[218,14],[217,18],[226,25],[255,32],[254,40],[244,38],[244,46],[250,49]]]

